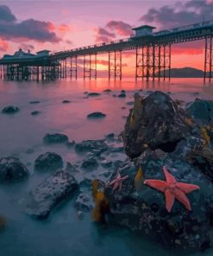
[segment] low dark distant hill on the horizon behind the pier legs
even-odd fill
[[[163,72],[160,72],[163,75]],[[166,76],[169,75],[168,69],[166,69]],[[171,68],[171,77],[176,78],[198,78],[204,77],[204,71],[193,67]]]

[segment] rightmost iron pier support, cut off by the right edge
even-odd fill
[[[212,79],[213,37],[205,37],[204,82]]]

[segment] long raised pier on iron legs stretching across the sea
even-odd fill
[[[83,58],[83,78],[97,79],[97,55],[108,54],[109,80],[122,80],[122,53],[135,50],[135,80],[170,80],[172,45],[204,40],[204,81],[212,80],[213,21],[198,22],[174,29],[153,32],[144,25],[133,29],[135,35],[87,47],[50,54],[16,52],[0,60],[0,79],[59,80],[78,79],[78,59]]]

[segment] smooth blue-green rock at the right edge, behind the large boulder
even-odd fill
[[[213,101],[197,99],[186,106],[186,111],[200,125],[213,125]]]

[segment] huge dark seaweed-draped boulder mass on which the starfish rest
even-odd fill
[[[122,177],[128,176],[122,190],[105,188],[104,195],[110,203],[109,221],[169,248],[204,251],[212,246],[212,138],[206,144],[200,126],[160,92],[145,99],[135,95],[134,109],[129,113],[122,138],[126,153],[134,159],[119,164],[108,181],[109,184],[115,180],[119,170]],[[200,188],[186,195],[192,211],[175,200],[169,213],[164,193],[144,184],[149,179],[165,181],[163,166],[177,182]]]

